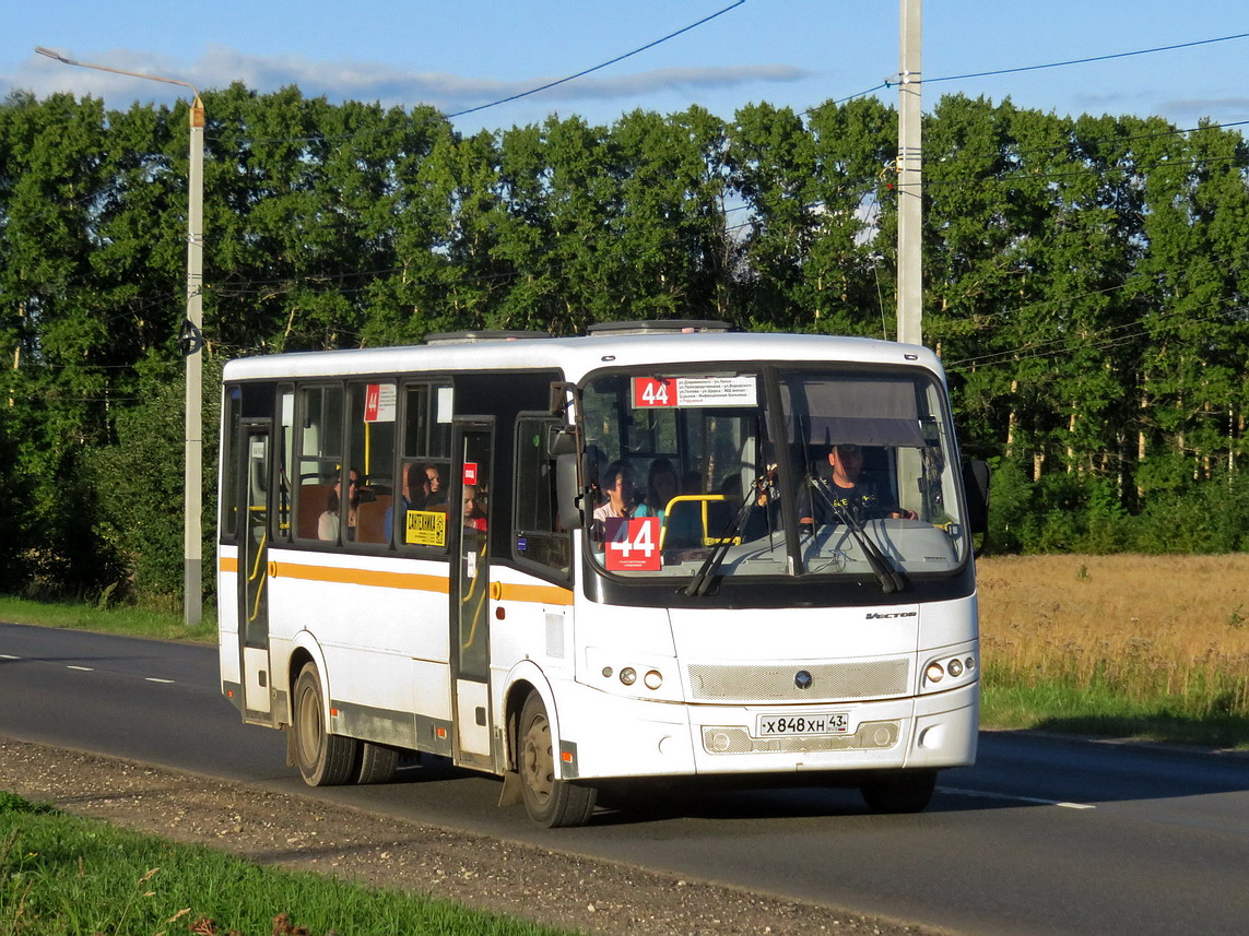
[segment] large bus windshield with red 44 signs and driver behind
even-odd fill
[[[592,563],[608,575],[909,577],[969,549],[945,394],[919,369],[601,372],[581,394]]]

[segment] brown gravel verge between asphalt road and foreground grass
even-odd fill
[[[0,790],[267,865],[616,936],[938,936],[164,768],[0,739]]]

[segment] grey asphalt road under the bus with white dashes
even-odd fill
[[[585,829],[446,766],[311,791],[217,690],[212,648],[0,624],[0,735],[975,936],[1249,934],[1249,759],[985,733],[916,816],[854,791],[648,791]]]

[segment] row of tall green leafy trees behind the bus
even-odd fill
[[[668,317],[893,337],[909,193],[876,99],[476,135],[294,87],[204,104],[207,478],[240,354]],[[924,341],[994,467],[985,548],[1249,547],[1240,134],[965,96],[924,121]],[[186,124],[0,105],[0,589],[180,590]]]

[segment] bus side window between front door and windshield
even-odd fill
[[[551,437],[560,423],[548,416],[522,416],[516,422],[516,559],[567,575],[572,557],[568,533],[558,525],[555,458]]]

